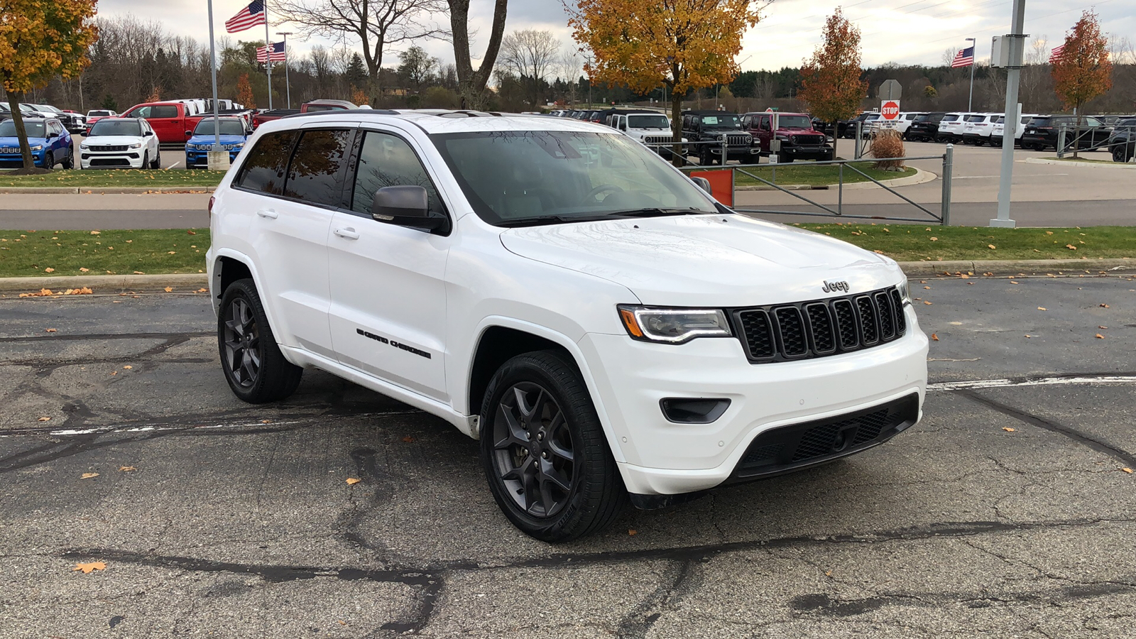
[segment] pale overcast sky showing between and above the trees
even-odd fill
[[[317,1],[317,0],[309,0]],[[214,0],[214,22],[218,38],[224,34],[226,19],[248,0]],[[947,48],[966,45],[966,38],[978,41],[979,59],[989,57],[991,38],[1010,31],[1012,0],[853,0],[837,3],[824,0],[775,0],[763,11],[763,19],[744,38],[738,56],[743,70],[777,69],[799,66],[811,55],[820,41],[820,30],[827,15],[837,6],[863,34],[863,64],[878,66],[884,63],[938,65]],[[1094,7],[1101,17],[1102,30],[1113,36],[1136,40],[1136,2],[1133,0],[1101,0],[1083,5],[1068,0],[1026,1],[1026,33],[1034,38],[1047,36],[1050,47],[1059,44],[1064,33],[1080,17],[1085,8]],[[470,22],[479,33],[478,55],[490,32],[493,0],[473,0]],[[201,0],[101,0],[99,14],[105,16],[133,14],[143,19],[161,22],[168,32],[190,35],[208,42],[209,23],[206,2]],[[170,16],[177,16],[170,19]],[[269,14],[272,18],[272,15]],[[436,19],[448,23],[445,16]],[[264,39],[264,27],[234,34],[245,40]],[[570,43],[567,17],[560,0],[511,0],[506,32],[537,28],[552,31],[566,45]],[[276,31],[295,31],[289,25]],[[327,41],[301,41],[293,36],[290,49],[306,52],[312,44]],[[357,44],[357,43],[356,43]],[[423,48],[443,63],[453,60],[448,42],[423,41]],[[384,66],[394,66],[394,55],[384,57]],[[475,63],[476,64],[476,63]]]

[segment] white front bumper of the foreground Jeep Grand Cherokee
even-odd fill
[[[678,495],[729,481],[751,443],[780,426],[845,420],[911,396],[918,417],[927,338],[910,309],[907,320],[908,333],[884,346],[775,364],[750,364],[741,342],[727,338],[667,346],[588,333],[579,346],[596,363],[596,404],[628,491]],[[679,424],[662,415],[665,398],[721,398],[729,407],[711,423]]]

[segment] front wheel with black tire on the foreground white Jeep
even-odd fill
[[[626,508],[592,398],[562,355],[543,350],[506,362],[485,391],[481,423],[490,490],[525,534],[570,541],[603,530]]]

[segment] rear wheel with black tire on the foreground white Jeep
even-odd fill
[[[252,280],[237,280],[225,289],[217,314],[217,347],[228,388],[242,401],[277,401],[300,385],[303,368],[281,352]]]

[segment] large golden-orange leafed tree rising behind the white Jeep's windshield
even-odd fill
[[[758,24],[761,0],[578,0],[567,2],[573,36],[594,56],[584,69],[593,82],[624,84],[637,93],[660,85],[675,97],[671,131],[682,155],[682,96],[726,84],[737,75],[742,34]],[[582,49],[583,50],[583,49]],[[680,161],[680,160],[677,160]]]

